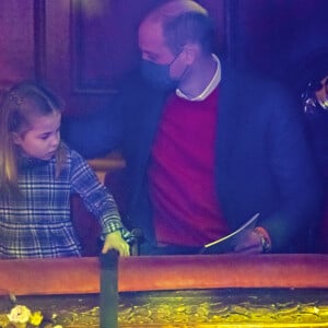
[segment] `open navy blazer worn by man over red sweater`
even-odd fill
[[[165,95],[130,82],[133,89],[121,98],[129,223],[155,243],[147,167]],[[306,235],[321,201],[296,105],[278,83],[225,71],[218,105],[216,192],[230,227],[259,212],[272,250],[295,251],[293,244]]]

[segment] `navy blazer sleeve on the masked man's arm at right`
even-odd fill
[[[269,101],[269,155],[281,202],[261,224],[270,233],[273,250],[280,251],[295,236],[303,237],[300,232],[314,229],[321,204],[321,186],[295,104],[284,91],[278,90]]]

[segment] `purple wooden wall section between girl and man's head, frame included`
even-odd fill
[[[139,58],[141,16],[161,1],[44,1],[44,80],[67,99],[67,115],[106,109],[119,79]]]

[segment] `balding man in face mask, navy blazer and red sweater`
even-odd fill
[[[305,251],[320,187],[297,106],[278,83],[221,62],[213,35],[190,0],[140,24],[141,77],[122,83],[119,119],[107,119],[117,133],[98,144],[120,140],[125,223],[142,230],[141,254],[197,254],[259,213],[230,251]]]

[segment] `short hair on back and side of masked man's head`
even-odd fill
[[[177,16],[164,17],[163,34],[167,47],[178,54],[188,44],[198,44],[204,54],[213,51],[214,24],[202,12],[187,11]]]

